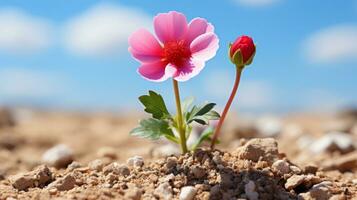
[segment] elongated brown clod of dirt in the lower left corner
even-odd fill
[[[45,186],[52,180],[52,173],[47,166],[41,165],[31,172],[17,174],[9,179],[14,188],[27,190],[28,188]]]

